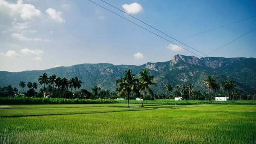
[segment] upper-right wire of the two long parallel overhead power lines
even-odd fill
[[[178,42],[180,42],[181,44],[184,44],[183,42],[179,41],[178,39],[175,39],[175,38],[173,38],[172,36],[170,36],[170,35],[168,35],[168,34],[166,34],[166,33],[162,32],[161,30],[156,29],[155,27],[153,27],[153,26],[151,26],[151,25],[149,25],[149,24],[145,23],[144,21],[142,21],[142,20],[140,20],[140,19],[138,19],[138,18],[134,17],[133,15],[128,14],[127,12],[125,12],[125,11],[123,11],[123,10],[121,10],[121,9],[117,8],[116,6],[113,6],[113,5],[111,5],[110,3],[105,2],[104,0],[101,0],[101,1],[102,1],[102,2],[104,2],[104,3],[107,3],[108,5],[112,6],[113,8],[118,9],[119,11],[121,11],[121,12],[123,12],[123,13],[125,13],[125,14],[129,15],[130,17],[135,18],[136,20],[138,20],[138,21],[142,22],[143,24],[146,24],[147,26],[151,27],[151,28],[152,28],[152,29],[154,29],[154,30],[157,30],[158,32],[160,32],[160,33],[162,33],[162,34],[164,34],[164,35],[168,36],[169,38],[172,38],[172,39],[174,39],[175,41],[178,41]],[[191,48],[191,49],[193,49],[193,50],[195,50],[195,51],[197,51],[197,52],[199,52],[199,53],[201,53],[201,54],[205,55],[204,53],[202,53],[202,52],[198,51],[197,49],[194,49],[193,47],[190,47],[190,46],[189,46],[189,45],[187,45],[187,44],[184,44],[184,45],[186,45],[187,47],[189,47],[189,48]],[[207,55],[205,55],[205,56],[207,56]]]

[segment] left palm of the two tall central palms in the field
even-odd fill
[[[127,108],[129,108],[129,98],[132,92],[139,94],[139,79],[135,78],[135,75],[132,71],[126,70],[125,77],[116,80],[116,84],[119,85],[117,95],[127,95]]]

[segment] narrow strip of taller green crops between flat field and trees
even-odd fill
[[[0,105],[38,105],[38,104],[99,104],[99,103],[127,103],[127,100],[108,99],[57,99],[57,98],[29,98],[29,97],[0,97]],[[130,103],[141,104],[141,101],[130,100]],[[256,105],[256,101],[208,101],[208,100],[145,100],[149,105]]]

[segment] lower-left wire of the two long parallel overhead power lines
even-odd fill
[[[154,35],[156,35],[156,36],[162,38],[162,39],[165,39],[165,40],[168,41],[168,42],[171,42],[172,44],[175,44],[174,42],[172,42],[172,41],[170,41],[170,40],[168,40],[168,39],[166,39],[166,38],[163,38],[162,36],[160,36],[160,35],[158,35],[158,34],[152,32],[152,31],[146,29],[145,27],[142,27],[142,26],[140,26],[139,24],[136,24],[136,23],[134,23],[133,21],[130,21],[130,20],[128,20],[127,18],[122,17],[121,15],[119,15],[119,14],[117,14],[117,13],[115,13],[115,12],[113,12],[113,11],[111,11],[111,10],[109,10],[109,9],[107,9],[107,8],[105,8],[105,7],[103,7],[103,6],[101,6],[101,5],[99,5],[98,3],[95,3],[95,2],[93,2],[93,1],[91,1],[91,0],[88,0],[88,1],[90,1],[91,3],[94,3],[95,5],[98,5],[98,6],[100,6],[101,8],[103,8],[103,9],[105,9],[105,10],[107,10],[107,11],[109,11],[109,12],[111,12],[111,13],[113,13],[113,14],[115,14],[115,15],[117,15],[117,16],[119,16],[119,17],[121,17],[121,18],[123,18],[123,19],[125,19],[125,20],[127,20],[127,21],[129,21],[130,23],[135,24],[136,26],[139,26],[140,28],[142,28],[142,29],[144,29],[144,30],[146,30],[146,31],[148,31],[148,32],[150,32],[150,33],[152,33],[152,34],[154,34]],[[175,45],[178,45],[178,44],[175,44]],[[190,51],[190,50],[188,50],[188,49],[186,49],[186,48],[184,48],[184,47],[182,47],[182,46],[180,46],[180,45],[178,45],[178,46],[181,47],[181,48],[184,49],[184,50],[187,50],[187,51],[190,52],[190,53],[193,53],[193,54],[195,54],[195,55],[197,55],[197,56],[199,56],[199,57],[202,57],[202,56],[200,56],[200,55],[198,55],[198,54],[196,54],[196,53],[194,53],[194,52],[192,52],[192,51]]]

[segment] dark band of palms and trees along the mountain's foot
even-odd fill
[[[228,97],[228,100],[254,100],[255,94],[242,94],[241,91],[235,89],[235,82],[232,80],[222,81],[220,84],[216,82],[214,77],[208,76],[203,81],[208,91],[194,90],[194,86],[191,83],[172,86],[168,84],[166,86],[166,92],[161,94],[154,94],[151,86],[156,86],[154,82],[154,76],[150,75],[150,72],[146,69],[140,71],[138,78],[132,73],[132,70],[126,70],[125,76],[116,80],[116,91],[108,91],[94,86],[91,88],[91,92],[87,89],[81,89],[82,82],[78,77],[57,77],[55,74],[47,76],[43,73],[39,76],[38,82],[21,81],[19,83],[22,92],[18,93],[17,88],[12,88],[11,85],[0,88],[1,96],[8,95],[20,95],[27,97],[54,97],[54,98],[79,98],[79,99],[116,99],[122,97],[128,100],[127,106],[129,106],[130,99],[142,98],[142,105],[144,100],[154,99],[174,99],[174,97],[180,97],[183,100],[213,100],[214,97]],[[37,92],[38,86],[42,88]],[[27,91],[24,88],[27,86]],[[78,91],[77,91],[78,89]]]

